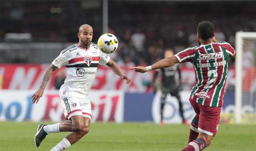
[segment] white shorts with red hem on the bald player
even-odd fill
[[[67,120],[75,115],[89,117],[91,119],[91,102],[88,98],[67,97],[61,99],[63,113]]]

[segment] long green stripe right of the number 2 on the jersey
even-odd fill
[[[227,69],[228,69],[228,54],[227,54],[225,48],[221,47],[221,49],[223,51],[224,60],[226,60],[227,64],[224,66],[221,82],[220,82],[219,85],[217,85],[216,92],[214,94],[213,101],[212,101],[212,104],[211,104],[212,107],[217,107],[217,104],[218,104],[218,101],[219,101],[218,98],[220,97],[220,91],[222,90],[222,87],[224,85],[224,81],[226,79]],[[219,75],[219,76],[221,76],[221,75]]]

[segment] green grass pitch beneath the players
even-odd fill
[[[41,122],[40,124],[52,124]],[[39,147],[34,135],[39,123],[0,122],[1,151],[48,151],[68,132],[50,133]],[[179,151],[187,143],[190,127],[153,123],[92,123],[90,132],[67,151]],[[208,151],[256,150],[256,125],[221,124]]]

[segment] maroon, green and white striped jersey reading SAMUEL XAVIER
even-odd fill
[[[191,62],[195,69],[196,85],[189,100],[199,104],[221,107],[226,86],[229,56],[235,50],[227,42],[188,47],[175,54],[180,63]]]

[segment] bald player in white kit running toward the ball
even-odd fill
[[[53,72],[66,66],[67,78],[60,88],[59,95],[64,115],[69,121],[38,125],[35,135],[37,147],[48,133],[72,132],[51,149],[51,151],[60,151],[70,147],[89,132],[91,103],[88,91],[95,78],[98,64],[109,66],[121,79],[126,80],[126,84],[131,81],[108,54],[102,53],[98,45],[91,43],[93,29],[90,25],[81,25],[77,35],[79,42],[62,50],[60,55],[54,59],[44,75],[41,86],[31,97],[31,102],[37,104]]]

